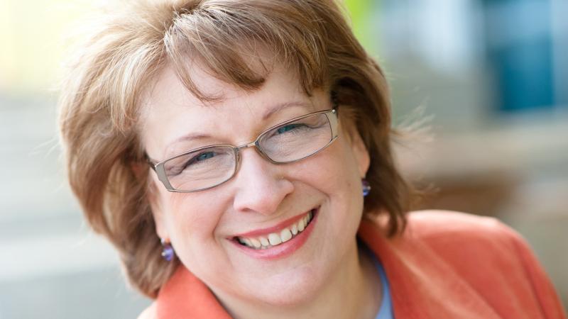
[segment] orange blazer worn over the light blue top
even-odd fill
[[[387,239],[378,220],[359,237],[381,259],[396,319],[566,319],[526,242],[494,218],[422,211]],[[180,267],[141,318],[231,318],[207,286]]]

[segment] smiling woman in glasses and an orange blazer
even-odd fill
[[[488,218],[406,216],[381,70],[333,1],[113,11],[62,89],[69,179],[141,318],[565,318]]]

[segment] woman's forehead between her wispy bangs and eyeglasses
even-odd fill
[[[158,159],[187,147],[249,142],[251,135],[278,121],[329,108],[321,105],[328,100],[323,91],[314,90],[308,96],[297,77],[280,65],[275,65],[264,84],[253,91],[222,82],[200,67],[191,72],[200,91],[219,99],[197,99],[172,67],[165,67],[151,89],[144,92],[139,122],[141,140],[148,154]],[[200,140],[200,145],[175,143],[187,135],[207,135],[209,140]]]

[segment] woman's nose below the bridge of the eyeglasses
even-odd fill
[[[233,206],[240,212],[271,215],[278,212],[280,203],[294,191],[294,185],[280,178],[285,165],[268,162],[253,148],[241,150],[239,171],[234,177]]]

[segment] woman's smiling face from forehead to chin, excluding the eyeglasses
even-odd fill
[[[273,125],[332,108],[328,94],[315,90],[307,96],[283,68],[275,67],[252,92],[193,72],[202,91],[222,99],[205,105],[173,69],[165,69],[146,92],[141,116],[143,143],[154,160],[206,145],[244,145]],[[204,191],[166,191],[151,172],[158,235],[172,242],[185,267],[222,301],[310,301],[356,256],[361,177],[369,159],[359,135],[350,137],[344,124],[329,147],[299,162],[272,164],[246,148],[236,175]],[[284,228],[293,233],[310,212],[312,220],[287,242],[260,250],[239,243],[270,243],[270,234]]]

